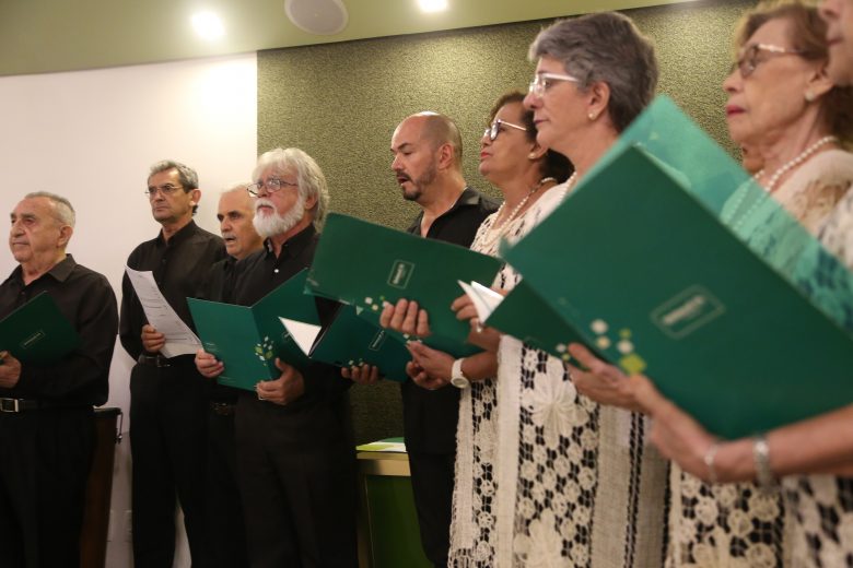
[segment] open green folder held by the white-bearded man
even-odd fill
[[[303,293],[306,275],[303,270],[252,307],[187,298],[205,351],[225,364],[218,382],[255,390],[259,380],[281,375],[276,357],[301,370],[311,364],[279,321],[319,323],[314,297]]]

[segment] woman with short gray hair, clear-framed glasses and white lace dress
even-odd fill
[[[530,57],[525,106],[539,144],[574,164],[571,190],[651,100],[654,49],[628,17],[598,13],[542,31]],[[475,316],[464,299],[455,308]],[[644,445],[643,417],[579,394],[542,351],[507,335],[496,350],[498,431],[475,448],[494,464],[496,492],[471,504],[494,531],[457,548],[457,517],[468,512],[455,502],[452,566],[661,566],[666,462]]]

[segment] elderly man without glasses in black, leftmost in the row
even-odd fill
[[[107,280],[66,253],[74,210],[27,194],[12,212],[9,245],[20,265],[0,285],[0,318],[47,293],[80,335],[51,364],[22,364],[0,345],[0,566],[80,565],[93,405],[109,391],[116,296]]]

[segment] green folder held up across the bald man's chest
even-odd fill
[[[307,279],[312,294],[363,308],[378,322],[385,301],[417,300],[430,315],[424,343],[455,356],[479,351],[466,344],[468,322],[451,304],[457,280],[492,282],[499,259],[435,239],[421,238],[354,217],[330,214]]]

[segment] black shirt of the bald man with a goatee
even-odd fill
[[[433,221],[426,238],[470,247],[480,224],[498,210],[499,202],[466,187],[459,199],[448,211]],[[421,212],[409,233],[421,234]],[[446,386],[439,390],[426,390],[411,380],[401,386],[402,426],[406,448],[425,453],[454,452],[456,448],[456,423],[459,418],[459,389]]]

